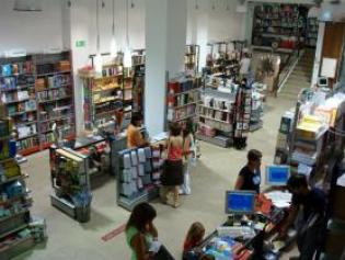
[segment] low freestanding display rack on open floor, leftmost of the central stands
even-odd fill
[[[90,221],[89,159],[70,148],[50,148],[51,205],[80,223]]]

